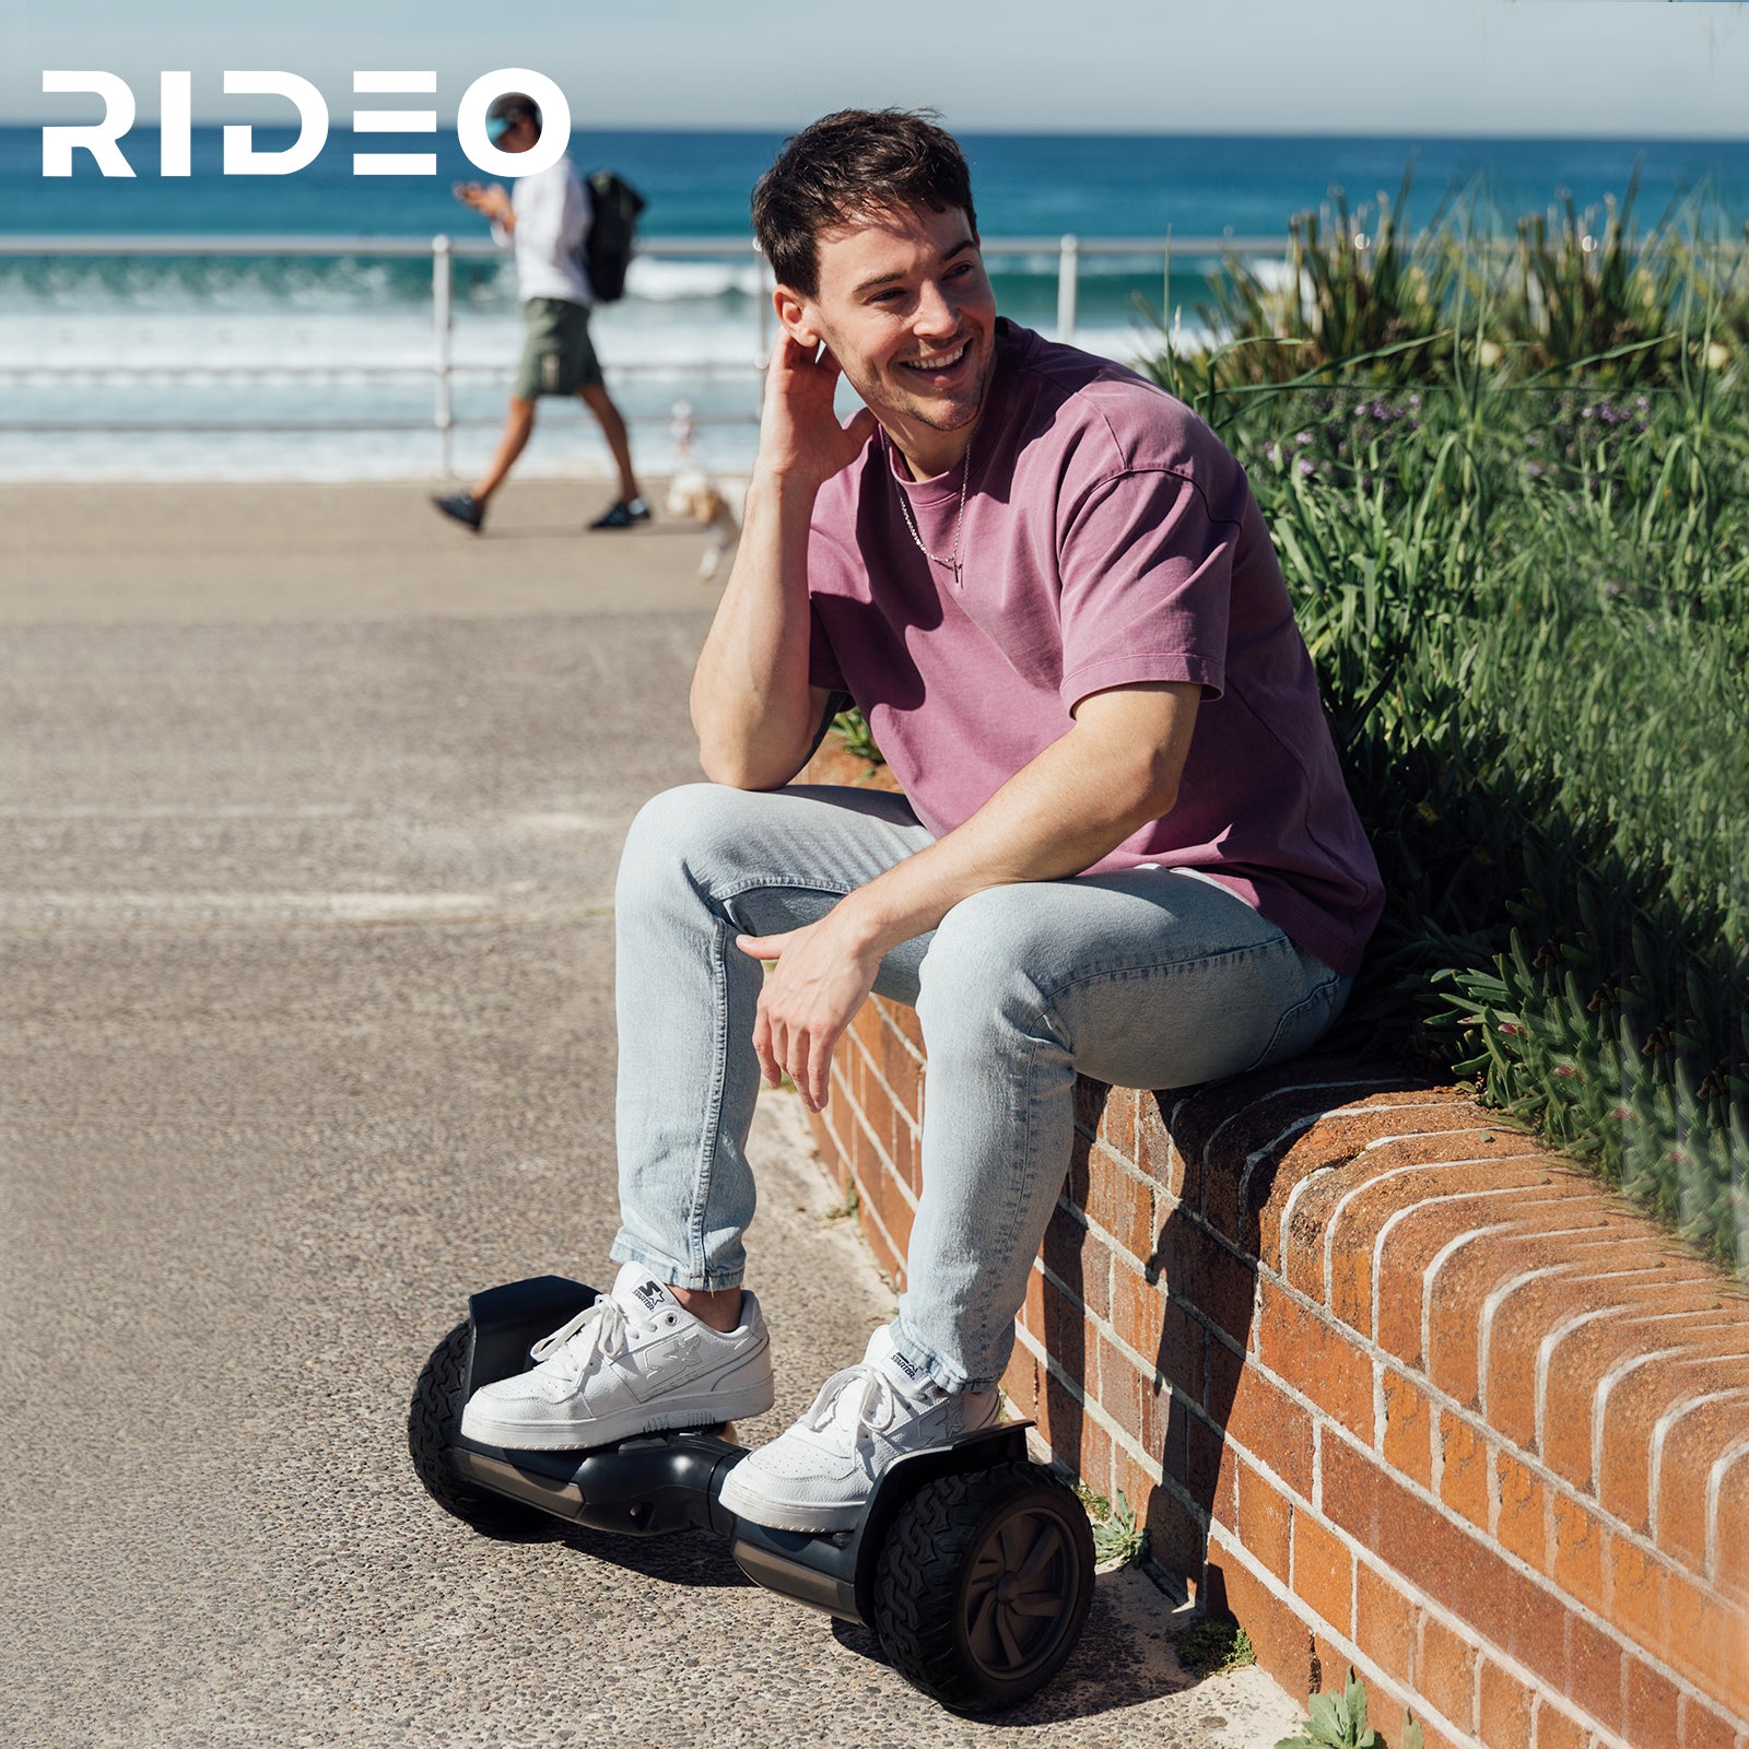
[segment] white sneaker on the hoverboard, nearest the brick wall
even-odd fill
[[[861,1366],[834,1373],[794,1427],[729,1471],[724,1509],[773,1530],[848,1530],[894,1459],[988,1427],[999,1413],[993,1390],[943,1390],[883,1326]]]

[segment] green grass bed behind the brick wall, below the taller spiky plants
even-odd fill
[[[1355,1027],[1744,1268],[1749,411],[1742,366],[1707,362],[1723,310],[1628,387],[1462,350],[1413,388],[1245,383],[1170,345],[1154,374],[1247,463],[1380,855]]]

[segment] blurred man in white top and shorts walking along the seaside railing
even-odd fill
[[[519,91],[505,93],[486,110],[486,138],[500,152],[526,152],[540,138],[540,110]],[[589,205],[577,166],[568,157],[516,178],[507,196],[493,182],[458,182],[456,199],[491,220],[491,234],[516,250],[516,287],[528,338],[511,385],[504,436],[486,472],[467,490],[434,497],[444,516],[479,533],[486,505],[528,446],[540,395],[577,395],[595,415],[619,469],[619,497],[591,528],[630,528],[649,521],[649,505],[631,470],[631,444],[619,408],[609,399],[602,366],[589,345],[589,306],[595,294],[582,261]]]

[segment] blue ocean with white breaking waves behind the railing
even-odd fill
[[[255,143],[290,138],[259,128]],[[719,472],[752,458],[764,282],[747,245],[747,198],[780,138],[572,138],[582,168],[617,170],[645,194],[649,236],[717,245],[714,255],[637,261],[626,299],[595,318],[609,383],[652,476],[682,451]],[[1286,241],[1291,215],[1333,189],[1350,205],[1394,199],[1410,164],[1417,222],[1460,191],[1506,219],[1569,192],[1593,208],[1620,199],[1635,173],[1642,227],[1697,191],[1737,234],[1749,215],[1746,142],[965,135],[964,145],[992,247],[1062,233],[1158,240],[1154,255],[1081,257],[1076,341],[1125,360],[1158,345],[1163,308],[1198,322],[1207,262],[1175,257],[1168,297],[1168,233]],[[449,196],[451,182],[477,177],[453,135],[439,136],[439,175],[429,178],[353,177],[352,140],[339,131],[292,177],[220,175],[217,128],[194,129],[187,178],[157,177],[154,129],[135,129],[122,149],[135,178],[100,177],[79,154],[72,178],[45,180],[40,133],[0,128],[0,240],[484,236]],[[1055,327],[1053,248],[995,255],[992,276],[1004,313]],[[463,476],[491,449],[519,339],[509,261],[458,259],[451,463]],[[423,255],[0,254],[0,477],[434,477],[434,357]],[[609,469],[588,415],[547,402],[521,470]]]

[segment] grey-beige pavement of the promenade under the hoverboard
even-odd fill
[[[467,1291],[605,1268],[614,861],[698,775],[698,537],[591,504],[0,490],[0,1737],[1273,1744],[1139,1572],[983,1725],[712,1539],[491,1543],[413,1480]],[[892,1305],[784,1098],[759,1161],[750,1438]]]

